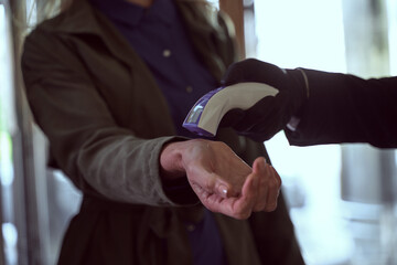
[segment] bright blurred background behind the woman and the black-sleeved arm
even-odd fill
[[[0,0],[0,264],[8,265],[55,264],[81,203],[62,172],[45,166],[46,140],[22,93],[21,45],[46,1],[35,2]],[[244,22],[235,20],[246,57],[365,78],[396,75],[395,0],[212,2]],[[283,180],[307,264],[397,264],[394,149],[291,147],[283,132],[265,145]]]

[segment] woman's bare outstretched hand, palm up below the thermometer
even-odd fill
[[[253,212],[277,208],[281,179],[262,157],[250,168],[224,142],[193,139],[168,144],[160,163],[163,178],[187,177],[200,201],[213,212],[248,219]]]

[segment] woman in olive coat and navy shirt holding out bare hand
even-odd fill
[[[264,146],[180,126],[233,63],[229,32],[205,1],[79,0],[28,36],[51,166],[84,194],[60,264],[303,263]]]

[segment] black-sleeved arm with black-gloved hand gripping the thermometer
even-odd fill
[[[291,145],[368,142],[396,147],[397,77],[363,80],[313,70],[282,70],[258,60],[229,67],[224,84],[260,82],[279,91],[251,108],[234,110],[226,123],[255,140],[285,129]]]

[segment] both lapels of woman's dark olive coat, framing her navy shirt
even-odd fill
[[[206,64],[210,72],[221,81],[225,66],[235,59],[227,26],[225,26],[225,23],[219,23],[223,20],[219,20],[216,12],[211,12],[211,10],[206,10],[205,7],[194,1],[174,1],[198,57],[203,59],[203,63]],[[208,17],[211,20],[208,20]],[[150,95],[153,106],[162,109],[161,121],[152,125],[151,130],[162,131],[163,135],[174,134],[173,126],[170,126],[173,121],[168,104],[147,64],[133,51],[116,26],[100,11],[96,10],[88,0],[74,1],[67,11],[44,22],[42,28],[61,35],[97,36],[98,41],[104,43],[114,57],[129,68],[131,75],[139,73],[139,77],[146,82],[144,93]],[[168,129],[165,132],[159,128]]]

